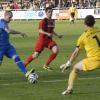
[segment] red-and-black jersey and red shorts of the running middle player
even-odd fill
[[[44,30],[45,32],[53,34],[55,27],[55,22],[53,19],[44,18],[39,23],[39,29]],[[52,37],[49,37],[46,34],[39,32],[37,42],[35,44],[34,50],[37,52],[42,51],[45,47],[51,49],[56,45],[55,41],[52,40]]]

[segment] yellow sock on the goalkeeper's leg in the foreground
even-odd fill
[[[67,90],[72,90],[73,89],[73,83],[77,77],[77,73],[75,69],[73,69],[69,75],[69,80],[68,80],[68,88]]]

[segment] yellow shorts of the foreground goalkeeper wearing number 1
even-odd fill
[[[91,71],[100,68],[100,59],[97,58],[86,58],[83,60],[83,70]]]

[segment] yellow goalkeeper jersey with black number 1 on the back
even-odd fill
[[[100,29],[93,27],[85,31],[79,37],[77,46],[85,48],[87,57],[100,59]]]

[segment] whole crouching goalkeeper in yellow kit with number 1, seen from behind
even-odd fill
[[[91,71],[100,68],[100,29],[94,27],[95,18],[92,15],[86,16],[84,24],[87,30],[79,37],[76,48],[67,63],[61,65],[60,68],[62,72],[69,68],[82,48],[85,49],[87,58],[73,66],[69,75],[68,87],[62,92],[63,95],[73,93],[73,84],[79,71]]]

